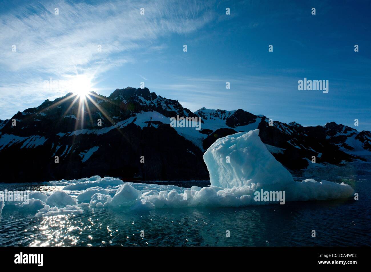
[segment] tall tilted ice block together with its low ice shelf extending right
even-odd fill
[[[348,198],[354,193],[344,182],[313,179],[295,182],[260,140],[259,129],[220,138],[203,157],[211,187],[224,187],[224,191],[234,195],[243,193],[253,198],[254,192],[263,189],[285,192],[286,201],[298,201]]]

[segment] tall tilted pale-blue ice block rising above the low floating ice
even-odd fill
[[[259,129],[219,138],[204,154],[212,186],[261,186],[293,182],[292,176],[267,150]]]

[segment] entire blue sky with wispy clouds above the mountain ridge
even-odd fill
[[[50,77],[83,77],[106,96],[144,82],[192,111],[371,130],[370,1],[0,3],[0,119],[69,92],[45,89]],[[304,77],[329,92],[299,91]]]

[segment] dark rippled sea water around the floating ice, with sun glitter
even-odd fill
[[[82,215],[44,218],[4,208],[0,246],[370,246],[371,176],[325,179],[348,183],[359,193],[359,200],[149,212],[83,208]],[[209,185],[208,182],[161,184],[187,188]],[[0,190],[3,189],[53,188],[0,184]],[[141,230],[144,237],[140,236]],[[227,230],[230,237],[226,237]],[[312,230],[316,231],[316,237],[311,236]]]

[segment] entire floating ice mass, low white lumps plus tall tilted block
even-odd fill
[[[349,198],[351,186],[326,180],[295,182],[260,140],[259,130],[239,132],[218,139],[204,154],[210,173],[210,187],[181,188],[123,182],[92,176],[77,180],[48,182],[63,186],[52,194],[30,192],[30,203],[14,203],[13,208],[35,212],[37,216],[81,214],[82,208],[151,210],[195,206],[240,207],[277,204],[256,202],[256,191],[284,191],[286,201]],[[7,203],[6,203],[7,204]],[[0,215],[4,203],[0,202]]]

